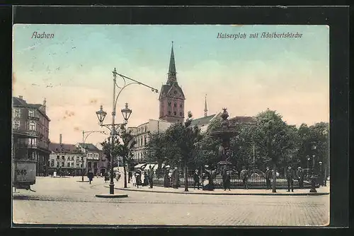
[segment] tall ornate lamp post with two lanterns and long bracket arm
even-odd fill
[[[124,81],[124,85],[122,85],[122,87],[118,86],[117,84],[117,75],[120,76],[122,78],[122,80]],[[127,83],[128,80],[128,83]],[[159,90],[157,90],[156,88],[152,88],[149,85],[146,85],[144,83],[141,83],[139,81],[135,81],[132,78],[129,78],[127,76],[123,76],[120,73],[117,73],[117,71],[114,69],[113,70],[113,107],[112,107],[112,123],[111,124],[103,124],[103,120],[105,119],[105,116],[107,115],[107,112],[103,111],[103,106],[101,105],[100,110],[98,110],[98,112],[96,112],[97,117],[98,117],[98,121],[100,122],[101,126],[105,126],[106,128],[110,129],[110,194],[114,194],[114,178],[113,178],[113,150],[114,150],[114,140],[115,140],[115,136],[118,136],[118,132],[115,131],[116,126],[120,126],[120,125],[126,125],[128,122],[128,119],[130,117],[130,114],[132,114],[132,110],[130,110],[128,108],[128,104],[125,103],[125,108],[123,108],[121,110],[122,112],[122,116],[124,119],[124,123],[122,124],[115,124],[115,107],[117,106],[117,101],[119,98],[120,93],[122,93],[122,90],[124,90],[125,88],[127,88],[127,86],[132,85],[132,84],[138,84],[138,85],[143,85],[144,87],[150,88],[153,92],[155,93],[159,93]],[[115,95],[115,88],[119,88],[119,92],[118,95]]]

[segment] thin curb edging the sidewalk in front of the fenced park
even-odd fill
[[[107,186],[105,186],[107,187]],[[322,195],[329,195],[328,192],[325,193],[299,193],[299,194],[291,194],[291,193],[215,193],[215,192],[183,192],[183,191],[154,191],[154,190],[139,190],[139,189],[124,189],[124,188],[114,188],[117,190],[122,190],[122,191],[146,191],[150,193],[159,193],[159,194],[198,194],[198,195],[253,195],[253,196],[322,196]]]

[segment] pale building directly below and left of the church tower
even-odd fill
[[[135,163],[144,162],[144,155],[147,151],[147,143],[149,142],[149,134],[159,131],[165,131],[173,124],[159,119],[149,119],[149,122],[140,124],[137,127],[129,127],[132,135],[135,137],[135,146],[132,148],[134,153],[133,160]]]

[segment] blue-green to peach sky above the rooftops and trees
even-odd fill
[[[32,38],[34,32],[54,38]],[[263,32],[302,37],[261,38]],[[218,33],[247,37],[221,39]],[[95,112],[100,105],[108,116],[112,111],[114,68],[160,90],[171,41],[185,110],[195,118],[204,114],[206,94],[209,114],[227,107],[231,116],[253,116],[269,108],[288,124],[329,122],[326,25],[14,25],[13,95],[30,103],[46,98],[50,140],[58,142],[62,134],[64,143],[77,143],[82,130],[104,130]],[[137,126],[158,118],[158,98],[148,88],[130,85],[117,109],[129,102],[129,126]],[[86,142],[105,137],[91,134]]]

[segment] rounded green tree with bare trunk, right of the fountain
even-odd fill
[[[273,192],[276,192],[276,170],[280,157],[287,155],[294,148],[289,126],[275,111],[266,110],[256,116],[256,126],[253,130],[253,141],[259,148],[259,153],[265,160],[273,163]]]

